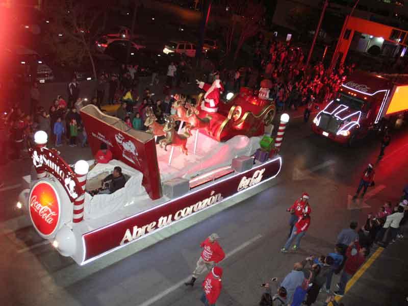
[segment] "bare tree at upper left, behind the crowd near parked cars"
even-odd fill
[[[103,13],[105,0],[53,0],[47,4],[50,18],[45,42],[52,45],[57,58],[68,65],[80,65],[88,56],[95,80],[97,79],[91,45],[100,29],[96,27]]]

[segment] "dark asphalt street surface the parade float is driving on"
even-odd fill
[[[254,188],[249,198],[245,199],[244,193],[231,202],[230,207],[216,214],[208,212],[208,215],[189,218],[188,223],[180,225],[183,223],[180,222],[166,232],[151,235],[83,267],[60,256],[32,227],[24,226],[24,217],[14,208],[21,190],[20,178],[30,173],[31,161],[25,159],[2,166],[5,187],[0,189],[0,246],[3,249],[0,300],[10,306],[200,305],[203,277],[193,288],[186,288],[182,283],[195,267],[200,242],[211,233],[217,233],[227,253],[220,264],[224,269],[223,290],[217,305],[258,304],[263,293],[260,284],[271,277],[282,281],[295,262],[310,254],[333,251],[342,228],[351,220],[362,224],[367,214],[376,212],[385,200],[397,202],[407,181],[404,171],[408,168],[406,129],[393,134],[386,156],[377,162],[378,140],[367,139],[354,148],[340,146],[314,135],[310,123],[295,118],[301,116],[300,113],[290,114],[293,118],[281,151],[283,169],[275,180]],[[69,163],[91,158],[87,148],[63,146],[61,152]],[[352,203],[349,198],[369,162],[375,164],[376,185],[371,187],[364,201]],[[311,226],[300,249],[283,254],[279,249],[289,231],[286,209],[303,191],[311,195]],[[192,225],[194,222],[197,223]],[[159,242],[151,244],[155,241]],[[397,243],[400,244],[392,246],[398,250],[393,253],[395,262],[402,261],[407,245],[406,241]],[[378,261],[382,265],[378,269],[385,274],[388,262]],[[385,275],[382,282],[387,283],[394,277],[391,270],[390,274]],[[380,287],[382,282],[374,282],[372,286]],[[358,284],[359,281],[353,290],[359,291],[353,294],[365,296],[366,290],[359,289]],[[381,290],[375,292],[388,294]],[[326,293],[321,293],[319,300],[325,297]],[[370,305],[388,305],[381,300],[370,302]]]

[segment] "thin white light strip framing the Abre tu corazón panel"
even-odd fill
[[[104,256],[108,255],[109,253],[112,253],[112,252],[114,252],[114,251],[116,251],[116,250],[118,250],[118,249],[121,249],[122,247],[125,247],[125,246],[127,246],[127,245],[130,245],[131,243],[134,243],[134,242],[138,241],[139,239],[142,239],[142,238],[145,238],[145,237],[147,237],[147,236],[149,236],[149,235],[151,235],[151,234],[157,233],[157,232],[159,232],[160,230],[162,230],[163,228],[166,228],[167,226],[171,226],[171,225],[173,225],[173,224],[175,224],[175,223],[177,223],[177,222],[179,222],[179,221],[181,221],[181,220],[186,220],[187,218],[189,218],[189,217],[195,215],[196,213],[205,211],[205,210],[207,210],[207,209],[209,209],[209,208],[211,208],[211,207],[214,207],[215,205],[218,205],[219,203],[224,202],[225,200],[231,199],[232,197],[235,197],[235,196],[241,194],[242,192],[245,192],[245,191],[247,191],[247,190],[249,190],[249,189],[252,189],[252,188],[254,188],[254,187],[256,187],[256,186],[259,186],[259,185],[261,185],[261,184],[263,184],[263,183],[266,183],[266,182],[268,182],[268,181],[274,179],[274,178],[279,174],[279,172],[281,172],[281,169],[282,169],[282,157],[279,156],[279,157],[277,157],[277,158],[271,160],[270,162],[268,162],[268,163],[272,163],[272,162],[274,162],[274,161],[276,161],[276,160],[279,160],[279,170],[277,171],[277,173],[276,173],[275,175],[269,177],[268,179],[262,181],[261,183],[255,184],[255,185],[249,186],[249,187],[246,188],[246,189],[240,190],[240,191],[234,193],[233,195],[228,196],[228,197],[226,197],[226,198],[223,198],[223,199],[220,200],[219,202],[216,202],[214,205],[211,205],[211,206],[208,206],[208,207],[206,207],[206,208],[204,208],[204,209],[202,209],[202,210],[196,211],[196,212],[194,212],[194,213],[192,213],[192,214],[190,214],[190,215],[188,215],[188,216],[186,216],[186,217],[184,217],[184,218],[181,218],[181,219],[179,219],[179,220],[175,220],[175,221],[171,222],[170,224],[167,224],[167,225],[165,225],[165,226],[159,227],[159,228],[157,228],[156,230],[154,230],[154,231],[152,231],[152,232],[150,232],[150,233],[147,233],[147,234],[145,234],[145,235],[143,235],[143,236],[140,236],[139,238],[134,239],[134,240],[132,240],[132,241],[130,241],[130,242],[127,242],[127,243],[125,243],[125,244],[118,245],[117,247],[114,247],[114,248],[112,248],[112,249],[110,249],[110,250],[108,250],[108,251],[106,251],[106,252],[104,252],[104,253],[101,253],[101,254],[99,254],[99,255],[97,255],[97,256],[95,256],[95,257],[92,257],[92,258],[90,258],[90,259],[88,259],[88,260],[85,260],[85,257],[86,257],[86,244],[85,244],[85,239],[84,239],[84,237],[85,237],[86,235],[90,235],[90,234],[99,232],[99,231],[101,231],[101,230],[104,230],[104,229],[107,228],[107,227],[114,226],[114,225],[116,225],[116,224],[118,224],[118,223],[121,223],[121,222],[126,221],[127,219],[134,218],[134,217],[136,217],[137,215],[146,213],[146,212],[148,212],[148,211],[156,210],[156,209],[158,209],[159,207],[162,207],[162,206],[164,206],[164,205],[167,205],[169,202],[172,202],[172,201],[178,200],[178,199],[180,199],[180,198],[189,196],[189,195],[191,195],[191,194],[193,194],[193,193],[196,193],[196,192],[198,192],[198,191],[201,191],[202,189],[189,192],[188,194],[185,194],[185,195],[183,195],[183,196],[181,196],[181,197],[177,197],[177,198],[175,198],[175,199],[172,199],[171,201],[164,202],[164,203],[162,203],[161,205],[158,205],[158,206],[156,206],[156,207],[152,207],[152,208],[150,208],[150,209],[148,209],[148,210],[145,210],[145,211],[143,211],[143,212],[137,213],[136,215],[127,217],[127,218],[122,219],[122,220],[118,220],[118,221],[116,221],[116,222],[114,222],[114,223],[105,225],[104,227],[97,228],[96,230],[94,230],[94,231],[92,231],[92,232],[89,232],[89,233],[86,233],[86,234],[82,235],[83,259],[82,259],[82,263],[81,263],[80,265],[83,266],[83,265],[88,264],[88,263],[90,263],[90,262],[92,262],[92,261],[94,261],[94,260],[96,260],[96,259],[98,259],[98,258],[104,257]],[[252,171],[252,170],[254,170],[254,169],[258,169],[258,168],[264,167],[265,164],[266,164],[266,163],[261,164],[261,165],[259,165],[258,167],[253,167],[252,169],[250,169],[250,170],[248,170],[248,171],[246,171],[246,172],[249,172],[249,171]],[[221,183],[221,182],[223,182],[223,181],[226,181],[226,180],[230,180],[230,179],[232,179],[233,177],[242,175],[243,173],[246,173],[246,172],[241,172],[241,173],[239,173],[239,174],[235,174],[235,175],[232,175],[232,176],[230,176],[230,177],[227,177],[227,178],[225,178],[225,179],[223,179],[223,180],[221,180],[221,181],[219,181],[219,182],[214,182],[213,184],[208,185],[208,186],[206,186],[205,188],[208,188],[208,187],[211,187],[211,186],[213,186],[213,185],[219,184],[219,183]]]

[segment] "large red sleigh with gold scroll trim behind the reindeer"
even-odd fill
[[[265,126],[272,123],[276,114],[274,103],[260,99],[247,88],[241,88],[229,101],[222,101],[218,105],[217,113],[208,113],[201,109],[203,94],[197,99],[198,116],[211,116],[210,128],[200,132],[217,141],[226,141],[237,135],[248,137],[261,136]]]

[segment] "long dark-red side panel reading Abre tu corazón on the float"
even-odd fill
[[[82,236],[84,253],[79,263],[82,265],[89,263],[180,220],[218,205],[228,198],[246,192],[276,177],[281,167],[282,159],[276,157],[248,171],[235,173],[206,187],[190,191],[182,197],[86,233]]]

